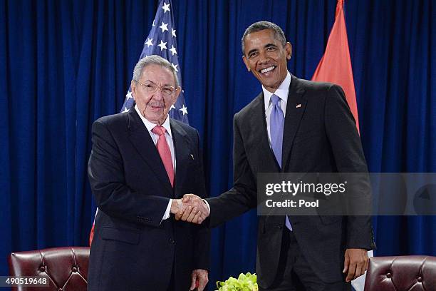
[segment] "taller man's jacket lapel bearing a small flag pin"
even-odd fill
[[[289,155],[291,155],[292,144],[297,130],[299,129],[301,118],[306,109],[306,99],[303,98],[305,89],[298,78],[292,76],[291,86],[289,87],[288,103],[286,105],[286,118],[283,133],[283,152],[281,168],[282,171],[288,168]]]

